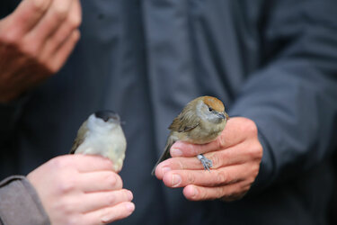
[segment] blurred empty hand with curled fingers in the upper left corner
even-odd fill
[[[79,0],[22,0],[0,20],[0,103],[58,72],[75,47]]]

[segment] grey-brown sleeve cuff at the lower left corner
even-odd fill
[[[0,182],[0,224],[50,224],[38,194],[22,175]]]

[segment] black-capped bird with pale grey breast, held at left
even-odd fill
[[[112,111],[94,112],[77,131],[70,154],[108,157],[116,172],[121,170],[127,141],[120,127],[120,116]]]

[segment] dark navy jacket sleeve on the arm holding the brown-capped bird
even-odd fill
[[[230,111],[257,124],[258,190],[337,149],[337,1],[271,2],[262,29],[264,66],[249,76]]]

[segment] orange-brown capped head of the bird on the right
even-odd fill
[[[228,120],[224,103],[216,97],[202,96],[197,99],[196,111],[202,120],[212,123],[221,123]]]

